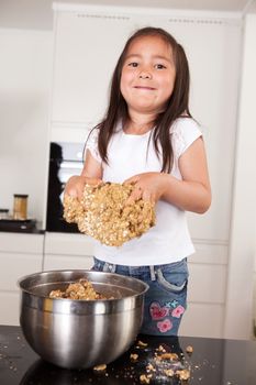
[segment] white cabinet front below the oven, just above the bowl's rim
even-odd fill
[[[43,270],[87,270],[92,265],[92,244],[84,234],[45,234]]]

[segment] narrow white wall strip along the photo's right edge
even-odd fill
[[[256,14],[245,19],[243,66],[234,165],[225,337],[252,330],[253,270],[256,258]],[[243,315],[243,317],[238,316]],[[232,324],[232,327],[230,327]],[[247,330],[244,333],[243,330]]]

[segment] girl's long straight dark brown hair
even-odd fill
[[[166,105],[165,111],[157,116],[156,121],[154,122],[155,129],[153,131],[155,151],[159,156],[160,145],[163,153],[162,172],[169,173],[174,161],[169,128],[171,127],[174,121],[181,116],[191,118],[189,111],[190,76],[188,59],[186,57],[182,46],[168,32],[166,32],[163,29],[146,26],[141,30],[137,30],[127,40],[113,72],[112,81],[110,85],[111,87],[109,107],[107,109],[105,117],[99,124],[94,127],[94,129],[100,130],[98,136],[98,148],[102,161],[108,164],[108,145],[111,140],[111,136],[115,132],[116,124],[120,121],[122,121],[123,123],[129,121],[127,105],[121,94],[120,81],[127,50],[131,43],[135,38],[141,36],[159,36],[167,44],[169,44],[172,50],[174,62],[176,67],[174,90]]]

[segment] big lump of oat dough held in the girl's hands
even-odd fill
[[[101,243],[121,246],[155,224],[155,205],[143,199],[126,205],[133,189],[133,184],[86,185],[81,201],[64,197],[64,218]]]

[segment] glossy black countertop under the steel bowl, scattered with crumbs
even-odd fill
[[[140,346],[138,341],[146,343]],[[193,348],[187,353],[188,345]],[[155,364],[159,346],[179,354],[178,363]],[[135,362],[131,353],[137,354]],[[146,371],[153,363],[156,372]],[[168,377],[166,369],[188,369],[190,378]],[[207,338],[156,338],[138,336],[134,345],[103,372],[64,370],[41,360],[27,345],[19,327],[0,326],[1,385],[129,385],[141,384],[141,374],[152,374],[149,384],[255,385],[256,342]]]

